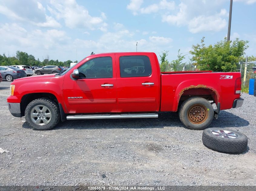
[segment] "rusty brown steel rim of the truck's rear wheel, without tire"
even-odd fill
[[[191,123],[200,124],[208,117],[208,110],[203,105],[194,105],[188,110],[188,119]]]

